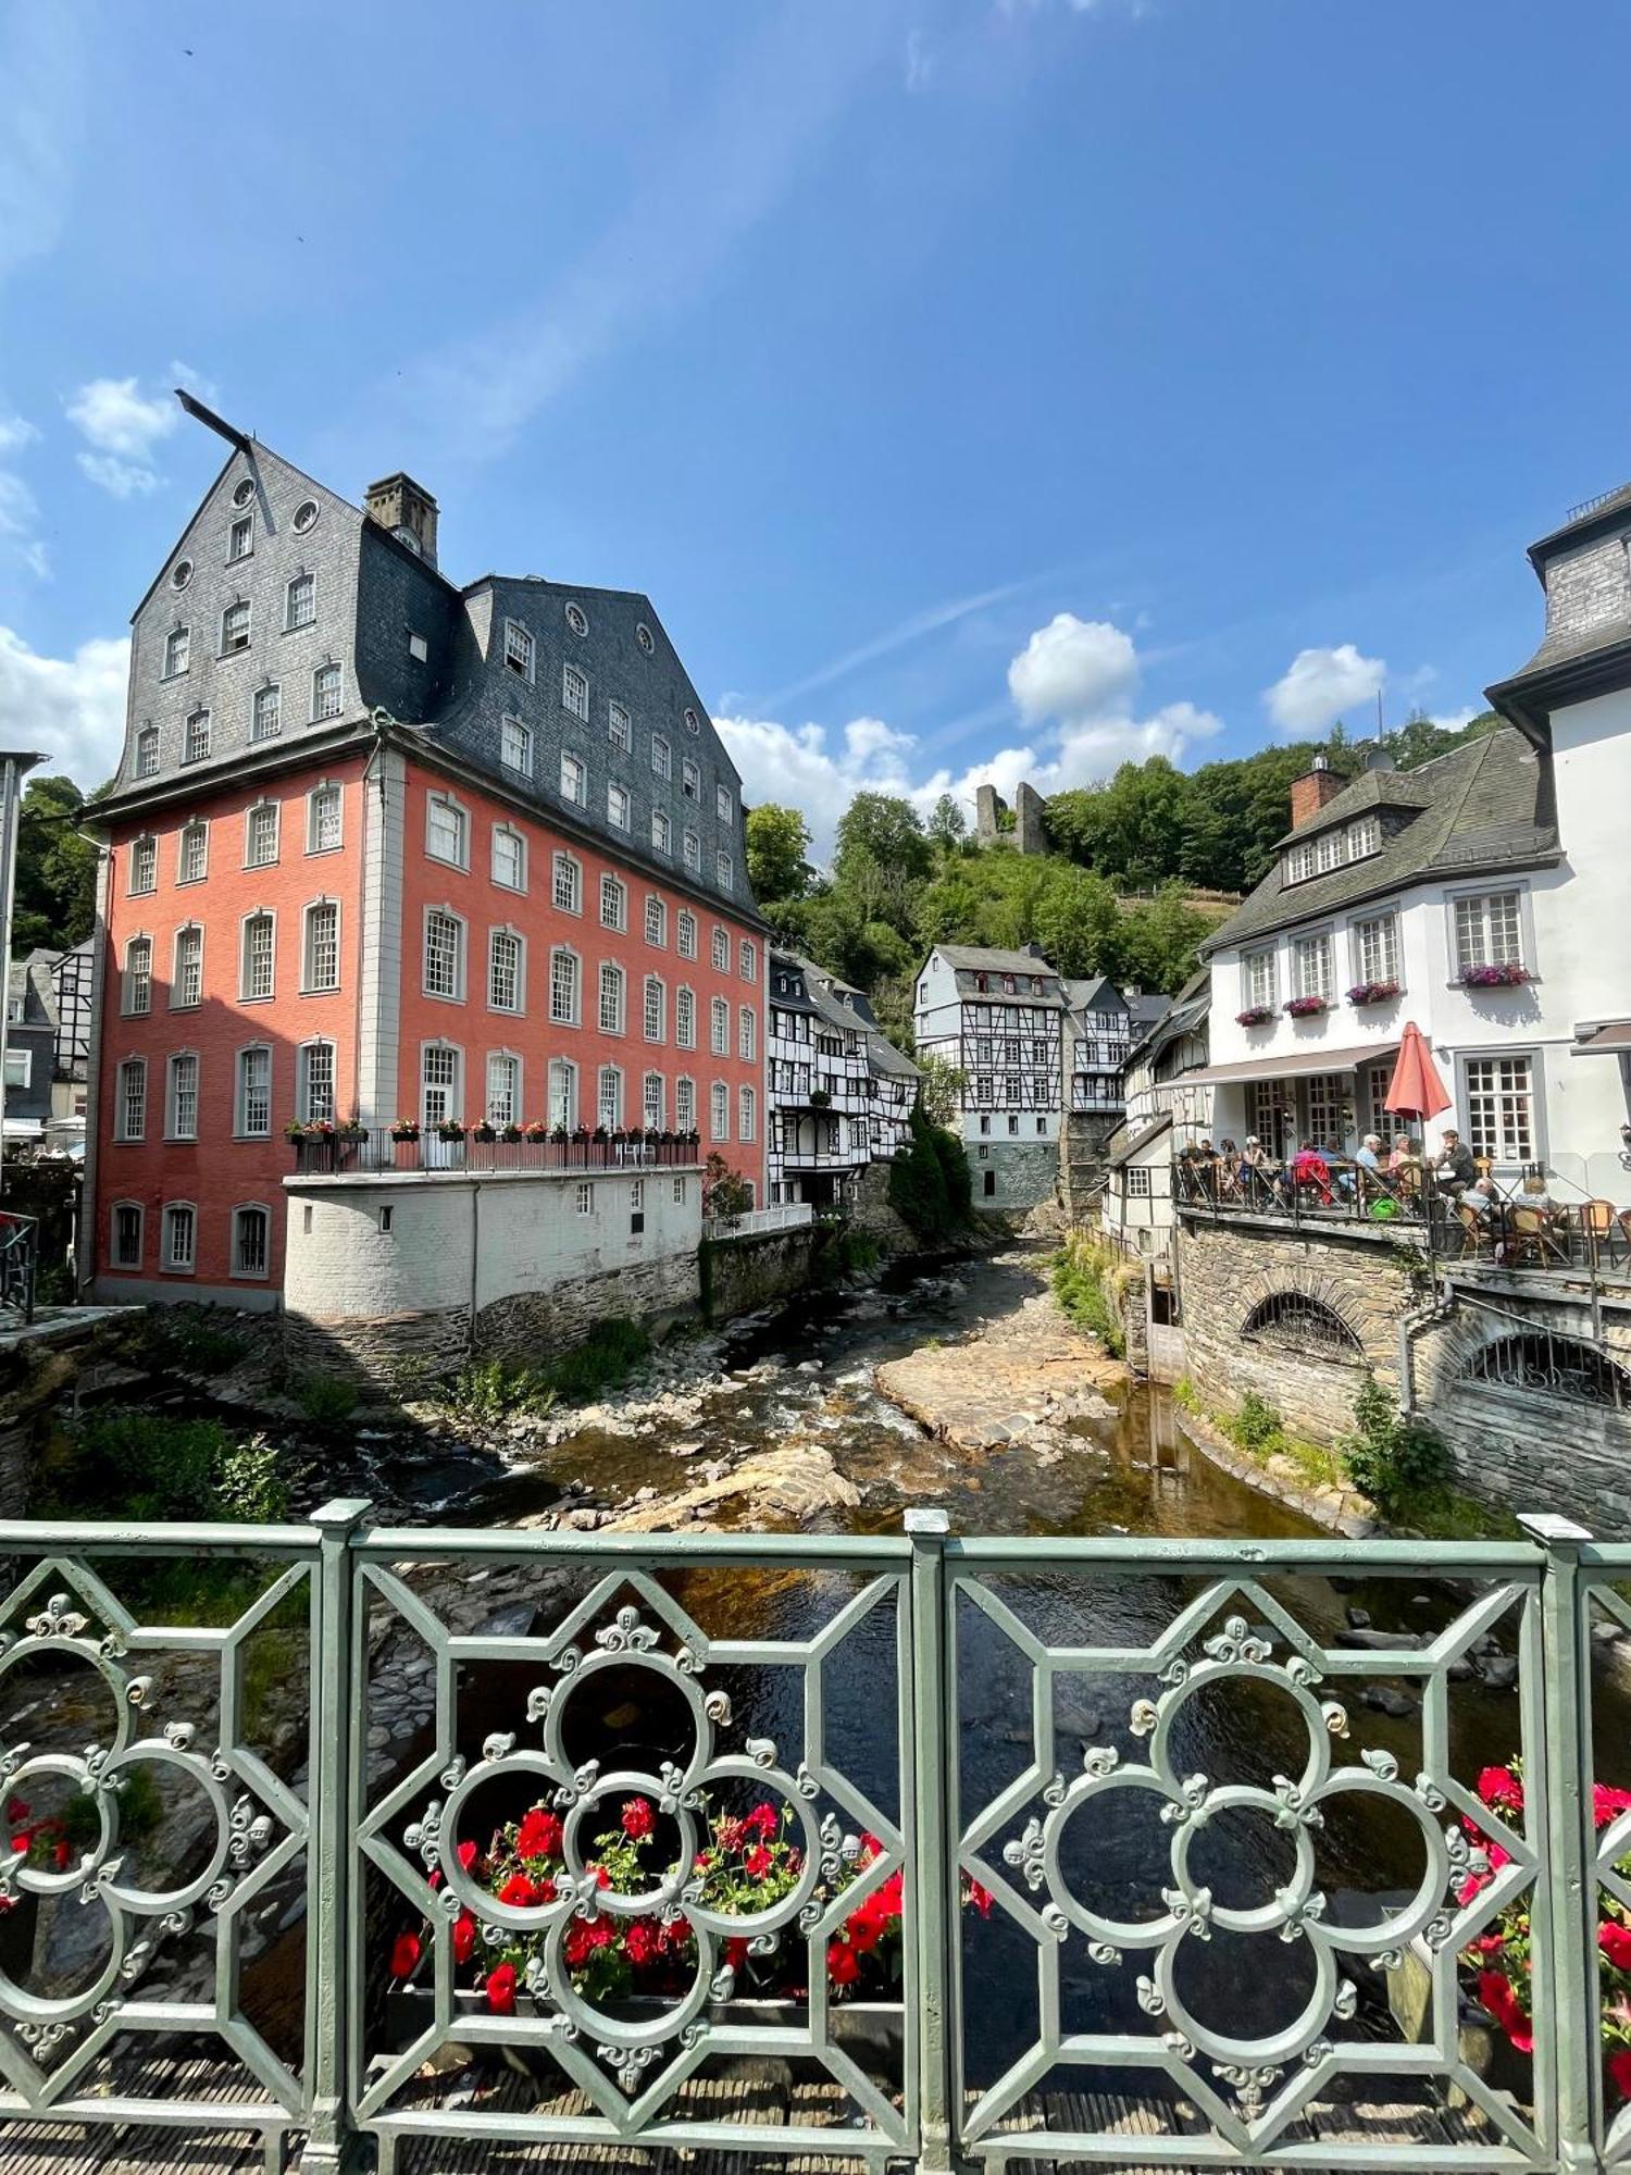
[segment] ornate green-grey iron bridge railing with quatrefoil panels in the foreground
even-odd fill
[[[1631,2164],[1631,1549],[1524,1525],[0,1525],[0,2153]]]

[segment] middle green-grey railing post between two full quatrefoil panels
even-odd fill
[[[946,1731],[946,1531],[944,1509],[909,1509],[911,1540],[911,1744],[916,1834],[911,1877],[918,1905],[918,2127],[922,2175],[950,2175],[957,2012],[957,1838],[948,1820]]]

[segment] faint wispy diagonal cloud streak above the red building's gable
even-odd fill
[[[781,202],[855,89],[900,52],[905,0],[785,0],[739,41],[715,96],[652,144],[622,211],[522,311],[409,363],[378,396],[441,452],[485,459],[594,361],[696,309]]]

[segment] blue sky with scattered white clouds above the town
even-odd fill
[[[1620,0],[0,0],[0,731],[215,468],[650,592],[750,798],[1455,718],[1631,476]]]

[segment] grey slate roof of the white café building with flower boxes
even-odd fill
[[[1418,770],[1366,772],[1296,835],[1318,837],[1377,807],[1377,781],[1409,785],[1411,796],[1420,796],[1418,813],[1383,840],[1381,853],[1290,885],[1277,857],[1250,898],[1203,942],[1203,957],[1433,877],[1535,868],[1557,857],[1551,772],[1514,726],[1483,733]],[[1400,800],[1385,805],[1403,807]]]

